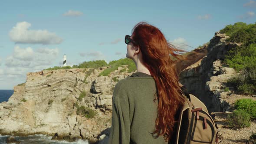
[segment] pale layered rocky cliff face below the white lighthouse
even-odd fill
[[[124,65],[110,76],[98,77],[105,68],[27,73],[26,83],[15,86],[10,99],[0,104],[0,134],[52,134],[67,140],[97,141],[111,126],[115,81],[129,75],[119,72],[126,69]],[[77,115],[81,106],[97,115]]]

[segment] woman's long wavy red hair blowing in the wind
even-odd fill
[[[187,51],[175,48],[157,27],[146,22],[134,26],[132,39],[136,42],[134,46],[139,46],[143,64],[150,71],[157,86],[154,102],[158,99],[158,115],[155,130],[151,134],[157,134],[157,137],[164,135],[165,141],[169,141],[174,132],[176,112],[185,101],[179,85],[179,73],[183,68],[176,64],[189,60],[181,55],[181,52]]]

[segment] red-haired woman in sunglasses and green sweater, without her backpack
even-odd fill
[[[174,52],[186,51],[145,22],[125,36],[125,43],[137,72],[115,85],[109,144],[167,144],[184,103],[175,63],[186,58]]]

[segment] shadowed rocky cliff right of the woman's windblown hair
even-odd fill
[[[228,92],[224,92],[224,88],[227,87],[226,80],[239,73],[224,66],[222,61],[230,48],[240,44],[227,43],[225,40],[228,37],[224,33],[216,32],[209,45],[201,48],[207,49],[207,55],[184,69],[180,75],[180,82],[207,105],[209,112],[230,111],[228,98],[235,95],[234,88],[229,87]]]

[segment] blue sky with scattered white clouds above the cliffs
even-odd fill
[[[1,0],[0,89],[38,72],[125,58],[125,35],[145,21],[191,51],[236,22],[256,23],[256,0]],[[188,45],[188,46],[186,46]]]

